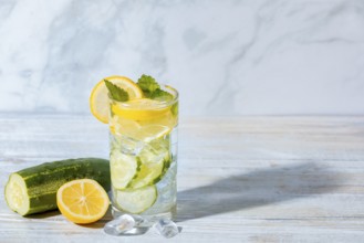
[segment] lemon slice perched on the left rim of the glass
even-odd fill
[[[143,92],[139,86],[132,80],[124,76],[110,76],[100,81],[91,92],[90,108],[91,113],[102,123],[108,122],[108,91],[104,83],[104,80],[112,82],[118,87],[123,88],[129,95],[129,99],[142,98]]]

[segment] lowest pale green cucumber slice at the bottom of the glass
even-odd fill
[[[158,192],[155,186],[135,190],[116,191],[118,207],[129,213],[142,213],[149,209],[157,200]]]

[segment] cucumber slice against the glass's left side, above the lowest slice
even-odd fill
[[[113,187],[125,189],[136,176],[139,163],[135,157],[113,150],[110,156],[110,166]]]

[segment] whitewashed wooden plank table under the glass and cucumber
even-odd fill
[[[44,161],[107,158],[90,116],[0,114],[0,187]],[[364,242],[364,117],[180,120],[180,234],[110,236],[58,211],[22,218],[0,198],[0,242]],[[3,189],[2,189],[3,190]]]

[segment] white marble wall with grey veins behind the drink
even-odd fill
[[[146,73],[187,115],[364,114],[363,0],[0,0],[0,110]]]

